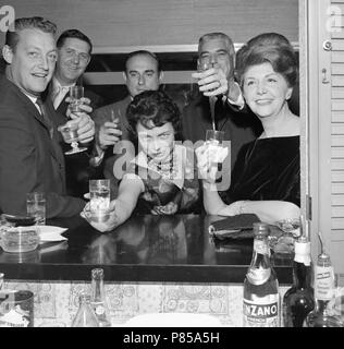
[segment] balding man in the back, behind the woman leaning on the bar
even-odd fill
[[[126,107],[133,98],[147,89],[158,89],[162,71],[155,53],[146,50],[133,51],[125,62],[123,77],[128,91],[128,95],[116,103],[103,106],[94,111],[96,123],[96,143],[98,154],[103,156],[103,174],[111,180],[112,193],[116,194],[119,176],[114,176],[114,161],[122,155],[120,140],[130,140],[130,125],[126,120]],[[114,147],[113,147],[114,145]],[[126,148],[126,157],[130,149]],[[134,154],[132,154],[134,156]]]

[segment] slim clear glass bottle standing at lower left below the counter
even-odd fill
[[[103,270],[91,269],[91,308],[98,318],[100,327],[111,327],[110,312],[103,287]]]

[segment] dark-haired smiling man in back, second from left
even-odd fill
[[[93,44],[78,29],[64,31],[57,40],[58,61],[53,77],[49,84],[49,95],[58,111],[57,123],[67,121],[67,97],[71,86],[82,83],[83,74],[90,62]],[[102,105],[102,98],[84,87],[84,96],[90,100],[95,110]],[[63,146],[63,145],[62,145]],[[65,156],[66,191],[69,195],[83,197],[88,192],[89,179],[103,178],[102,169],[89,164],[89,152]]]

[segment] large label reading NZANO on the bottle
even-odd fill
[[[280,327],[279,293],[244,299],[243,313],[245,327]]]

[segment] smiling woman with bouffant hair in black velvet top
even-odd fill
[[[299,216],[299,118],[288,108],[297,60],[285,37],[261,34],[237,52],[236,73],[247,105],[263,127],[245,144],[235,163],[224,201],[216,189],[207,145],[196,151],[207,213],[256,214],[273,224]]]

